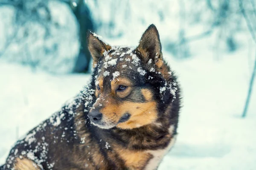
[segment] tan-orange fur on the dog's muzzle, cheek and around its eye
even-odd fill
[[[96,96],[102,94],[97,102],[93,105],[93,109],[97,109],[103,114],[103,122],[105,127],[120,127],[122,129],[132,129],[148,125],[157,119],[157,102],[152,100],[152,93],[147,89],[142,89],[141,93],[145,98],[145,102],[137,103],[131,101],[122,101],[133,90],[132,83],[129,79],[119,78],[111,81],[111,92],[104,94],[103,80],[99,78],[100,90],[96,90]],[[116,91],[119,85],[125,85],[124,91]],[[92,110],[93,110],[92,109]],[[119,123],[124,114],[130,114],[131,117],[126,122]],[[104,128],[104,127],[103,127]]]

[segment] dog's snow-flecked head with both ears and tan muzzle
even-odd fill
[[[88,48],[96,96],[88,113],[93,125],[132,129],[154,122],[165,95],[169,99],[171,77],[157,28],[149,26],[135,49],[111,47],[89,32]]]

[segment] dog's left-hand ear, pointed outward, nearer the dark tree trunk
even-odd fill
[[[90,54],[93,58],[93,68],[95,64],[99,62],[99,59],[103,57],[104,51],[111,49],[110,45],[105,44],[99,37],[91,31],[87,32],[87,44]]]

